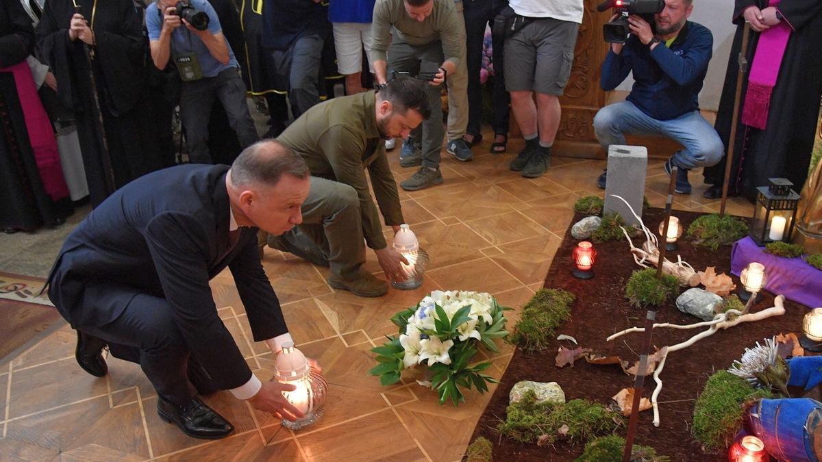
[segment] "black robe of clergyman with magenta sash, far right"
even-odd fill
[[[745,17],[742,12],[750,6],[764,9],[767,0],[737,0],[733,22],[737,24],[731,57],[728,59],[725,84],[719,100],[716,128],[727,150],[733,103],[737,90],[739,66],[737,57],[741,49]],[[765,130],[747,127],[741,122],[741,109],[745,104],[747,75],[742,84],[740,117],[737,125],[736,146],[733,147],[733,164],[729,191],[754,200],[756,187],[767,186],[768,178],[787,178],[797,192],[805,183],[813,149],[817,115],[822,94],[822,1],[782,0],[778,9],[783,21],[792,25],[792,34],[782,66],[770,99],[768,122]],[[759,33],[750,30],[748,41],[748,71],[754,60]],[[725,173],[725,160],[704,170],[705,182],[721,185]],[[740,161],[741,159],[741,161]]]

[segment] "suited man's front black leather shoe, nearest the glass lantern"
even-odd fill
[[[158,396],[157,413],[164,421],[180,427],[189,437],[216,440],[228,437],[234,431],[229,421],[196,398],[180,406]]]

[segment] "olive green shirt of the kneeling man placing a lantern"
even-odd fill
[[[368,247],[376,250],[386,247],[365,169],[386,225],[405,221],[397,183],[388,166],[386,143],[376,127],[373,91],[316,104],[289,125],[277,140],[302,155],[313,176],[342,182],[357,190]]]

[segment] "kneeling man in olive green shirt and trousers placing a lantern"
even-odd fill
[[[404,223],[399,192],[386,158],[385,140],[408,136],[431,116],[427,84],[399,77],[377,91],[317,104],[278,138],[302,155],[311,170],[311,190],[302,204],[302,224],[271,247],[330,266],[328,283],[361,297],[378,297],[386,281],[363,270],[365,245],[374,249],[389,280],[404,279],[399,255],[386,243],[365,170],[380,212],[396,233]]]

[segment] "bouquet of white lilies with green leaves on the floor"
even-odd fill
[[[469,364],[480,344],[499,351],[494,340],[508,335],[503,316],[507,309],[487,293],[435,290],[416,307],[391,318],[399,327],[399,336],[388,337],[386,344],[372,349],[379,364],[371,373],[380,376],[385,386],[398,382],[403,369],[426,366],[429,380],[420,383],[439,393],[440,404],[463,401],[459,387],[470,390],[475,386],[484,393],[486,382],[496,383],[482,373],[491,363]]]

